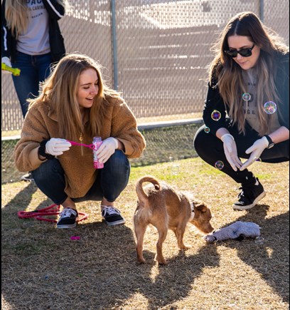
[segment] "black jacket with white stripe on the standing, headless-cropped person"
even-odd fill
[[[15,63],[16,58],[16,43],[15,33],[11,32],[11,29],[7,27],[7,21],[5,18],[5,4],[6,0],[2,1],[1,5],[1,57],[10,58],[12,63]],[[63,36],[60,33],[60,27],[58,26],[58,20],[61,19],[65,14],[65,8],[58,4],[56,0],[43,0],[43,5],[48,11],[49,21],[49,43],[50,53],[52,61],[57,62],[65,56],[65,44]]]

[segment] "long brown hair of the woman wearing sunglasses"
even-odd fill
[[[229,36],[247,36],[260,48],[257,60],[257,116],[260,124],[259,135],[267,133],[269,125],[272,123],[272,115],[263,111],[263,104],[267,101],[278,101],[279,95],[276,93],[274,78],[278,71],[274,56],[277,53],[288,53],[289,48],[282,43],[281,38],[262,24],[257,15],[252,12],[243,12],[232,17],[228,21],[225,29],[220,34],[218,42],[213,49],[216,56],[210,64],[210,83],[215,79],[218,81],[220,95],[230,108],[229,116],[240,133],[245,134],[245,113],[242,113],[242,93],[245,93],[245,85],[242,78],[242,68],[227,56],[225,50],[229,49],[227,39]]]

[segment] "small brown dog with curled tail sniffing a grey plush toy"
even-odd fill
[[[143,188],[144,182],[150,182]],[[185,192],[178,192],[165,182],[158,182],[154,177],[141,177],[136,182],[138,196],[134,212],[134,230],[136,234],[136,252],[138,262],[144,263],[143,240],[146,227],[154,225],[159,232],[156,244],[156,261],[166,264],[162,254],[162,244],[166,239],[168,229],[176,234],[179,249],[188,249],[183,244],[183,234],[186,224],[192,223],[201,232],[208,234],[213,231],[210,225],[210,209],[203,202],[196,202]]]

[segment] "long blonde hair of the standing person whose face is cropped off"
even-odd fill
[[[57,1],[58,4],[62,5],[66,11],[70,9],[68,0]],[[7,27],[11,29],[11,32],[16,38],[27,30],[27,11],[28,7],[26,6],[26,0],[6,0],[5,18]]]

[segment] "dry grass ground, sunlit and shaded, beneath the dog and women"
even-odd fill
[[[89,218],[76,229],[55,229],[36,219],[18,219],[18,210],[50,205],[33,183],[2,185],[2,309],[289,309],[289,163],[257,162],[252,171],[267,196],[249,211],[232,210],[237,185],[199,158],[131,170],[117,201],[127,218],[120,227],[102,222],[99,203],[82,202]],[[168,266],[154,262],[158,234],[146,232],[144,257],[136,263],[132,215],[134,182],[155,175],[210,205],[220,228],[237,220],[262,227],[263,244],[253,239],[206,244],[188,227],[179,252],[173,232],[164,242]],[[52,180],[53,182],[53,180]],[[80,240],[72,241],[73,235]]]

